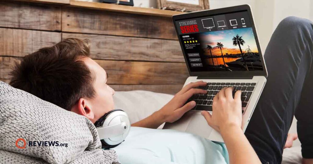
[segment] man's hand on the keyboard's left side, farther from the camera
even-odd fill
[[[195,101],[186,101],[194,94],[205,94],[207,91],[203,89],[197,89],[199,86],[206,86],[207,83],[203,81],[192,82],[182,88],[170,102],[162,107],[157,113],[160,115],[163,122],[175,122],[182,117],[187,111],[196,106]]]

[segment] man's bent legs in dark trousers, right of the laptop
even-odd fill
[[[302,154],[313,158],[312,26],[306,19],[285,18],[266,48],[267,83],[245,132],[262,163],[281,163],[294,114]]]

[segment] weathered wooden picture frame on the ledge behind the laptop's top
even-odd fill
[[[180,10],[185,12],[209,9],[208,0],[157,0],[160,9]]]

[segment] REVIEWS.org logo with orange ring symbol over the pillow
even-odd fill
[[[19,144],[20,143],[20,144]],[[21,146],[22,145],[22,146]],[[26,145],[28,146],[59,146],[59,147],[67,147],[67,143],[59,143],[59,141],[28,141],[27,142],[23,138],[18,138],[15,141],[15,146],[20,149],[25,149]]]

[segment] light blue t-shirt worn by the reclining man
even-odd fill
[[[112,148],[122,164],[228,164],[226,146],[175,130],[131,127],[125,141]]]

